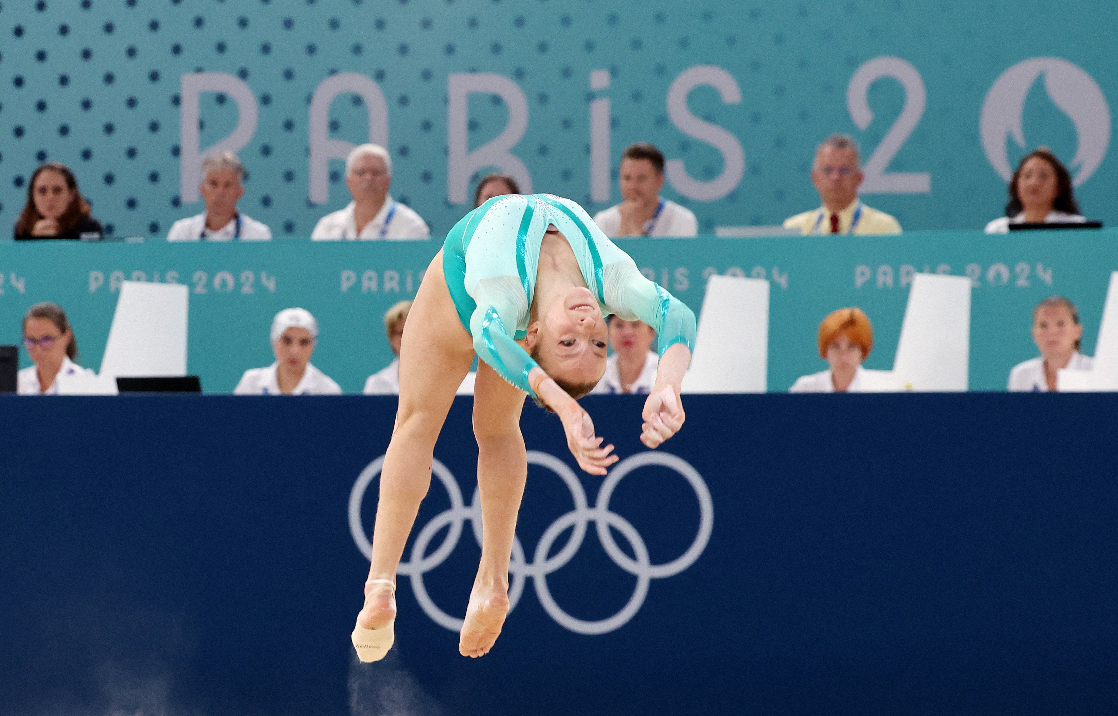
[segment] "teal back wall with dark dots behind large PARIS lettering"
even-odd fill
[[[199,212],[201,202],[184,204],[179,185],[181,77],[196,71],[228,74],[250,87],[258,122],[239,151],[248,169],[240,209],[280,237],[309,236],[321,216],[349,201],[341,161],[330,163],[325,203],[312,203],[309,187],[311,97],[343,71],[381,89],[392,194],[434,235],[471,208],[452,203],[448,192],[448,79],[463,73],[515,84],[528,126],[511,153],[536,191],[570,197],[591,211],[619,200],[618,157],[632,142],[655,143],[682,161],[692,184],[708,185],[732,174],[736,143],[745,161],[739,179],[695,198],[670,176],[664,194],[689,206],[702,231],[779,223],[817,206],[807,176],[814,147],[832,132],[846,132],[864,160],[891,152],[882,168],[885,191],[865,200],[906,228],[975,228],[999,216],[1005,180],[992,157],[1001,153],[1015,165],[1042,144],[1073,173],[1096,164],[1078,176],[1080,203],[1084,213],[1112,222],[1112,112],[1100,112],[1087,95],[1100,93],[1105,108],[1118,97],[1108,46],[1115,36],[1118,10],[1102,0],[3,0],[0,223],[16,221],[27,181],[45,161],[75,170],[112,235],[163,236],[176,219]],[[882,57],[902,64],[871,78],[863,97],[849,96],[852,78]],[[1081,96],[1058,105],[1045,82],[1059,83],[1063,66],[1042,63],[1017,93],[1020,146],[1012,127],[996,132],[1005,103],[987,108],[985,120],[984,106],[995,82],[1031,58],[1064,60],[1090,83],[1069,84]],[[729,95],[700,83],[672,111],[673,83],[702,66],[729,75]],[[608,73],[605,88],[591,89],[595,70]],[[921,90],[925,106],[916,112]],[[610,104],[608,200],[591,197],[590,105],[599,98]],[[467,99],[466,149],[473,151],[499,137],[511,115],[500,96]],[[852,113],[858,99],[866,116]],[[368,141],[364,105],[357,95],[338,96],[330,137]],[[916,122],[900,132],[900,144],[882,150],[906,117]],[[1001,149],[986,137],[984,122],[1004,142]],[[201,96],[201,147],[237,124],[229,97]],[[702,128],[711,124],[728,132],[731,144],[711,140],[716,135]],[[1098,130],[1090,146],[1080,136],[1087,125]],[[470,195],[484,169],[473,172]],[[918,191],[898,191],[904,182],[889,188],[898,172],[927,175],[927,190],[919,190],[925,180],[915,180]]]

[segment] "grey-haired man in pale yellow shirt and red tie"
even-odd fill
[[[802,233],[900,233],[901,225],[858,198],[863,174],[858,144],[845,134],[832,134],[815,150],[812,183],[823,206],[787,219],[786,229]]]

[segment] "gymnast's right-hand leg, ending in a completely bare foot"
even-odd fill
[[[527,397],[487,364],[479,363],[474,436],[482,503],[482,561],[458,641],[458,651],[465,657],[489,652],[509,611],[509,559],[528,478],[528,455],[520,432]]]

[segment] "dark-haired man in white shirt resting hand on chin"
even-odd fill
[[[625,201],[594,217],[594,222],[606,236],[692,237],[698,233],[695,214],[660,195],[664,188],[664,155],[652,144],[638,142],[625,150],[618,181]]]

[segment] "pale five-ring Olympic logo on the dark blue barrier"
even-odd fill
[[[547,452],[536,450],[528,452],[528,462],[529,465],[544,467],[558,475],[570,490],[571,498],[575,502],[575,509],[556,519],[543,531],[539,544],[536,545],[536,552],[531,562],[525,559],[520,538],[514,538],[512,559],[509,563],[510,612],[520,601],[525,583],[530,577],[536,586],[536,595],[539,598],[540,604],[543,605],[543,609],[557,623],[570,631],[582,634],[604,634],[623,627],[639,611],[648,593],[648,583],[652,580],[665,579],[679,574],[694,564],[695,560],[703,553],[703,550],[707,548],[711,528],[714,525],[714,505],[702,476],[686,460],[680,457],[666,452],[641,452],[622,460],[609,471],[609,475],[601,484],[601,489],[598,490],[598,497],[595,500],[594,507],[590,507],[587,503],[582,484],[566,462]],[[350,491],[350,532],[353,535],[353,542],[357,543],[358,550],[361,551],[366,559],[369,559],[372,554],[372,545],[369,543],[364,526],[361,524],[361,504],[364,500],[364,494],[369,484],[380,475],[383,464],[383,456],[370,462],[361,471],[361,475],[358,476],[357,481],[353,484],[353,489]],[[648,465],[659,465],[675,470],[691,485],[699,500],[699,532],[695,534],[694,541],[682,555],[663,564],[651,563],[648,550],[641,534],[628,521],[609,509],[609,499],[617,484],[633,470]],[[407,562],[400,562],[398,574],[407,575],[411,579],[411,591],[415,593],[416,600],[424,612],[432,620],[451,631],[458,631],[462,629],[462,620],[447,614],[435,604],[424,584],[424,574],[445,562],[451,555],[458,544],[466,521],[472,524],[474,538],[481,545],[481,499],[475,489],[472,504],[468,506],[465,505],[457,480],[446,469],[446,466],[438,460],[434,461],[432,471],[443,483],[443,487],[446,488],[446,493],[451,498],[451,508],[437,515],[419,531],[415,544],[411,546],[410,559]],[[591,522],[595,523],[598,541],[605,547],[609,559],[617,566],[636,576],[636,588],[633,590],[633,595],[625,607],[613,617],[599,621],[584,621],[565,612],[551,596],[547,582],[548,575],[562,569],[575,556],[579,547],[582,546],[582,538],[586,536],[587,526]],[[428,554],[427,550],[430,546],[432,540],[440,529],[447,526],[449,529],[443,543]],[[610,533],[610,527],[620,533],[628,542],[633,557],[628,556],[617,545]],[[569,528],[572,529],[567,544],[555,555],[548,557],[556,540]]]

